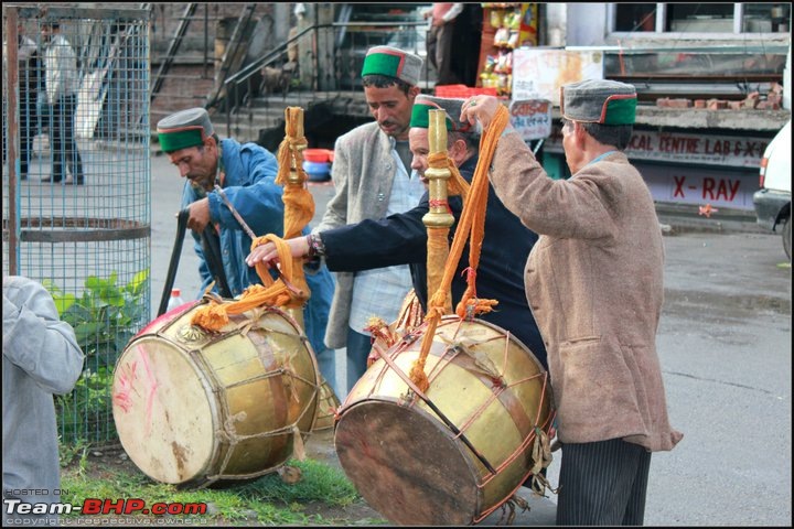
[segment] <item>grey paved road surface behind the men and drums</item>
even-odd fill
[[[153,312],[173,247],[182,183],[164,156],[152,158]],[[319,216],[333,187],[310,187]],[[670,419],[685,438],[652,460],[645,522],[790,526],[791,267],[780,236],[751,223],[680,214],[661,218],[672,223],[673,235],[665,237],[659,360]],[[176,285],[195,293],[200,284],[187,242]],[[308,449],[339,464],[331,435],[310,439]],[[549,471],[556,485],[559,461]],[[554,495],[522,495],[532,510],[518,512],[515,525],[554,523]],[[481,525],[497,520],[492,515]]]

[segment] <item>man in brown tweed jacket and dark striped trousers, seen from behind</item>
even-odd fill
[[[461,120],[493,120],[475,96]],[[622,152],[636,90],[612,80],[560,89],[572,176],[551,180],[522,138],[503,132],[491,182],[540,235],[524,270],[546,341],[562,444],[557,525],[642,525],[651,452],[682,439],[667,418],[656,331],[664,247],[651,193]]]

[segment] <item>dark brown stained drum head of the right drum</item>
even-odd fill
[[[426,412],[362,401],[336,423],[340,463],[364,499],[398,525],[470,525],[478,474],[452,433]]]

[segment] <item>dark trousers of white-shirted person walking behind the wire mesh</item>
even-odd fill
[[[50,109],[50,148],[53,153],[53,182],[66,176],[68,164],[72,177],[83,180],[83,160],[74,137],[74,115],[77,109],[77,96],[62,96]]]

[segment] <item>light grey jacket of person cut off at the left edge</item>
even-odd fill
[[[50,293],[33,280],[3,278],[2,316],[3,504],[14,498],[25,504],[60,501],[53,393],[72,390],[84,355]],[[3,512],[3,526],[36,518]]]

